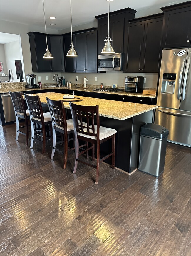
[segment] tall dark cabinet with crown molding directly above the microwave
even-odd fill
[[[110,12],[109,36],[115,53],[123,53],[124,27],[125,22],[135,17],[135,11],[131,8],[125,8],[115,12]],[[105,38],[108,35],[108,13],[98,15],[98,54],[105,45]]]

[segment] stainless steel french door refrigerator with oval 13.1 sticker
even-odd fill
[[[168,141],[191,147],[191,48],[162,51],[155,123]]]

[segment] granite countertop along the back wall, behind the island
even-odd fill
[[[18,83],[0,83],[1,88],[0,88],[0,93],[8,93],[9,91],[11,92],[27,92],[31,90],[64,90],[64,89],[70,89],[70,90],[75,90],[75,91],[86,91],[86,92],[95,92],[95,93],[106,93],[106,94],[116,94],[116,95],[123,95],[123,96],[134,96],[134,97],[145,97],[145,98],[156,98],[155,95],[145,95],[142,93],[132,93],[132,92],[100,92],[100,91],[94,91],[93,90],[93,85],[91,87],[83,88],[82,85],[80,84],[79,88],[76,88],[74,85],[72,87],[54,87],[54,84],[49,84],[50,86],[47,86],[46,84],[43,84],[42,88],[25,88],[25,82],[18,82]],[[79,86],[79,84],[78,84]],[[98,87],[97,87],[98,88]],[[96,86],[95,86],[96,89]],[[153,90],[153,89],[152,89]]]

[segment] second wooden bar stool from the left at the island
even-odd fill
[[[51,138],[52,122],[50,113],[43,113],[41,101],[38,95],[29,96],[24,93],[26,104],[29,109],[31,120],[31,146],[33,148],[34,139],[42,141],[42,154],[45,152],[46,139]],[[49,127],[46,129],[46,127]],[[42,134],[42,135],[41,135]],[[42,136],[42,140],[38,138]]]

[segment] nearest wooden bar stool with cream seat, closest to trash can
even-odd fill
[[[72,102],[69,103],[74,123],[74,134],[76,140],[76,157],[73,173],[76,172],[78,162],[96,168],[96,184],[98,184],[100,162],[111,156],[111,167],[115,168],[115,129],[100,126],[99,106],[81,106]],[[94,115],[96,114],[95,118]],[[96,119],[96,125],[94,122]],[[85,121],[86,120],[86,121]],[[84,123],[84,121],[86,123]],[[112,152],[100,159],[100,144],[112,139]],[[90,142],[91,146],[79,152],[79,140]],[[94,148],[97,145],[97,164],[90,164],[78,159],[78,156],[88,150],[92,150],[92,160],[94,161]]]

